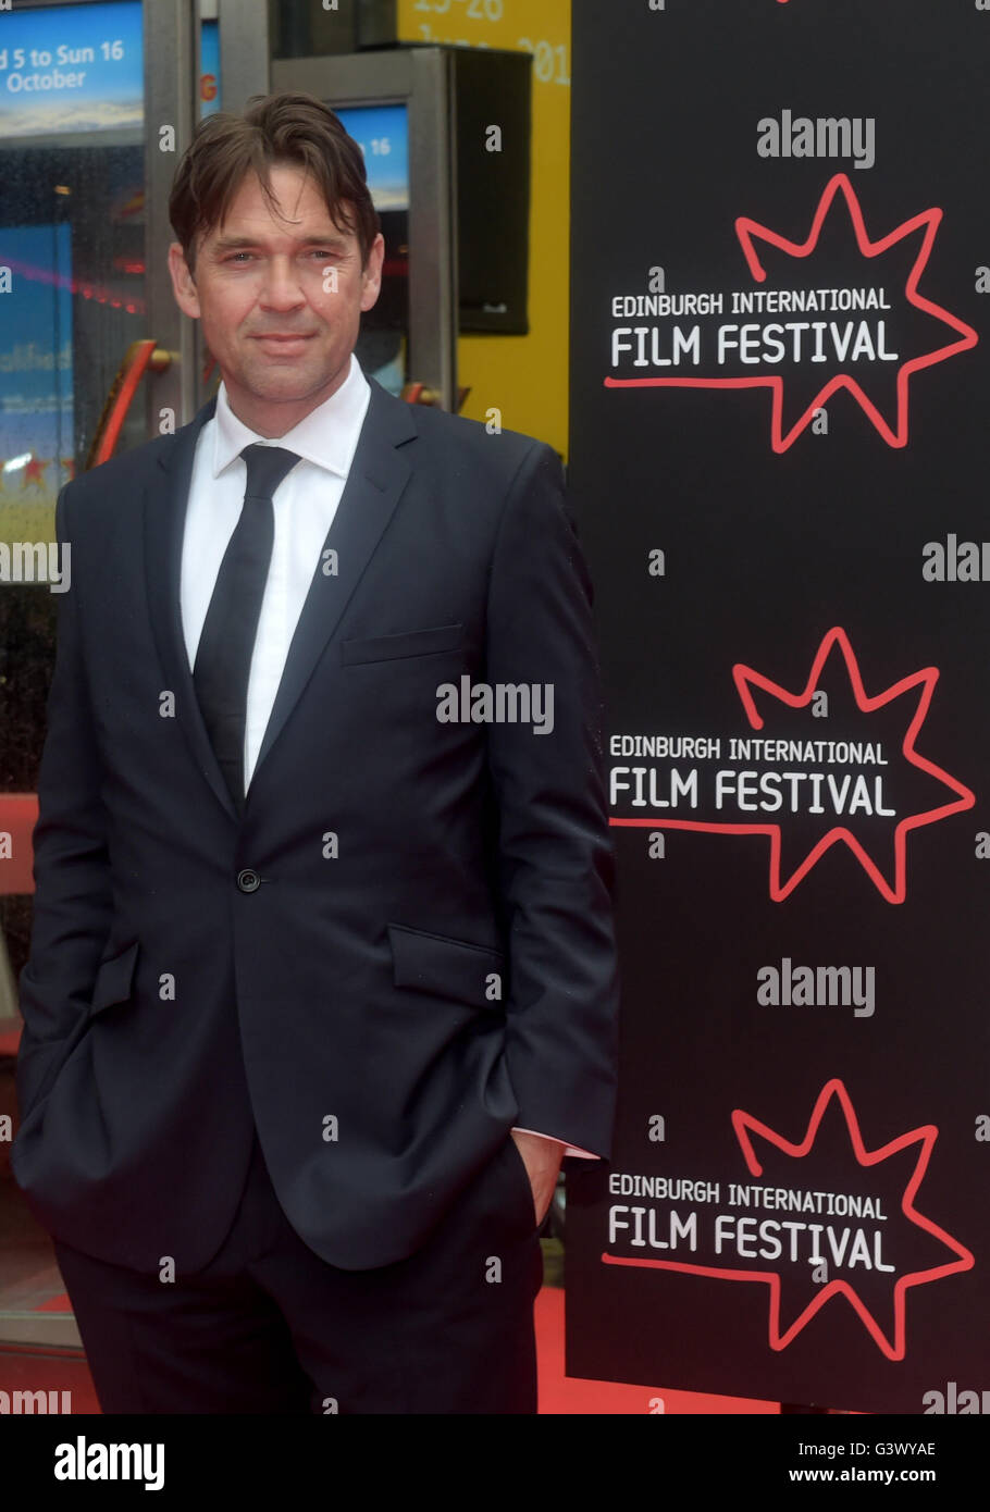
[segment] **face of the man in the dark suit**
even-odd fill
[[[381,236],[361,268],[354,231],[334,225],[305,172],[274,163],[269,209],[249,174],[227,219],[203,237],[195,278],[169,246],[180,310],[203,321],[230,405],[258,435],[277,437],[328,399],[348,375],[361,310],[381,289]]]

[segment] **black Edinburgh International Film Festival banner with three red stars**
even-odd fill
[[[567,1370],[987,1412],[990,9],[573,20],[624,1004]]]

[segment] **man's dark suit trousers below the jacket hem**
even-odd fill
[[[54,1240],[103,1412],[532,1414],[543,1256],[512,1137],[416,1253],[340,1270],[289,1223],[254,1152],[196,1275],[142,1275]]]

